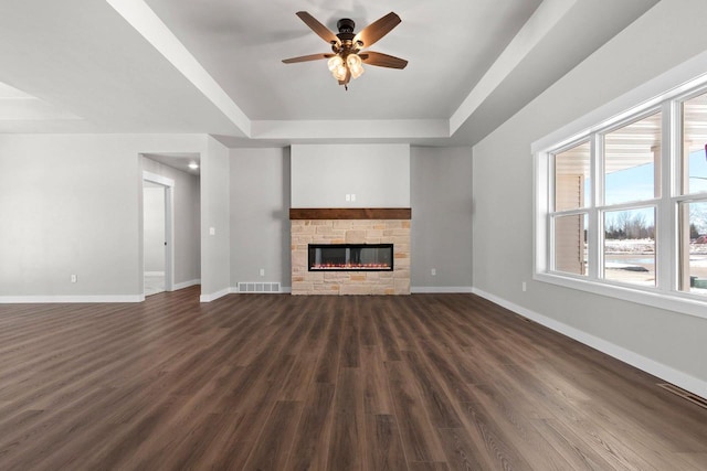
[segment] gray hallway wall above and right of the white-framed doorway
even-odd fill
[[[143,158],[143,170],[175,181],[175,287],[199,282],[201,278],[200,178]],[[147,271],[150,271],[146,267]]]

